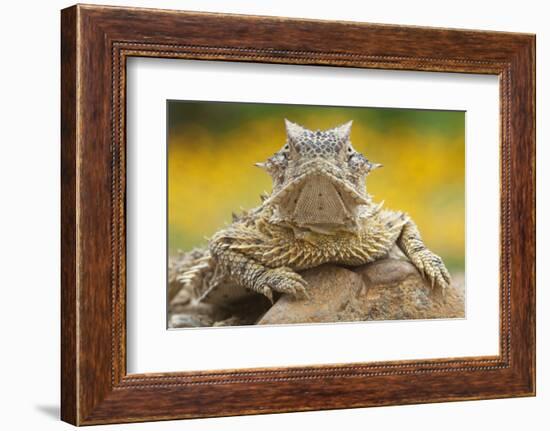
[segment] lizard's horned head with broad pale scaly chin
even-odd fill
[[[365,179],[381,166],[351,145],[348,122],[328,130],[308,130],[285,120],[287,139],[277,153],[257,166],[273,179],[266,200],[280,220],[313,231],[353,229],[359,208],[369,204]]]

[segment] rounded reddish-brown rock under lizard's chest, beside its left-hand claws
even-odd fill
[[[308,283],[309,298],[282,295],[258,321],[259,325],[346,320],[342,310],[365,289],[359,274],[333,265],[304,271],[302,276]]]

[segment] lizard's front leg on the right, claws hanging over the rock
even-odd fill
[[[451,276],[443,260],[426,248],[416,224],[408,220],[403,226],[401,235],[397,239],[397,245],[420,273],[439,289],[446,289],[451,283]]]

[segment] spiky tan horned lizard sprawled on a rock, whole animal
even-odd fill
[[[180,277],[197,301],[226,281],[271,300],[274,292],[307,297],[297,271],[364,265],[395,245],[433,288],[450,284],[443,261],[426,248],[410,217],[372,203],[365,177],[377,165],[351,147],[350,127],[312,132],[287,121],[286,145],[261,164],[273,177],[272,194],[218,231]]]

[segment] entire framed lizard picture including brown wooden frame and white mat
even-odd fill
[[[535,394],[535,37],[62,11],[62,419]]]

